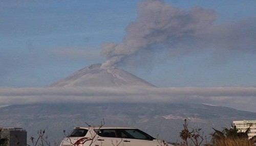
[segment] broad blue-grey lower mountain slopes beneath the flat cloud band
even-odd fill
[[[256,119],[255,112],[191,103],[21,104],[2,107],[0,113],[1,127],[22,127],[28,136],[46,129],[49,140],[62,139],[63,129],[83,127],[84,121],[97,126],[102,119],[106,125],[136,127],[168,141],[179,138],[184,119],[205,135],[214,132],[212,128],[230,127],[233,120]]]

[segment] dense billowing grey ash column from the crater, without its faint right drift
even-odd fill
[[[126,27],[123,42],[102,44],[101,54],[108,58],[102,67],[116,66],[141,51],[159,49],[155,46],[158,44],[172,49],[172,41],[194,37],[215,19],[216,13],[209,9],[195,7],[186,11],[163,1],[141,2],[136,21]]]

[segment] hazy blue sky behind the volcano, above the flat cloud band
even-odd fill
[[[1,1],[0,87],[47,86],[116,56],[102,55],[105,43],[130,46],[139,27],[165,20],[179,28],[154,28],[148,49],[120,67],[159,87],[256,87],[254,0]]]

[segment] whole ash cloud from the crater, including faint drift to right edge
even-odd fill
[[[236,53],[255,53],[256,21],[216,25],[214,10],[195,7],[183,10],[163,1],[138,5],[136,21],[126,27],[122,43],[103,43],[101,54],[108,60],[102,66],[152,61],[152,54],[164,51],[168,58],[210,50],[225,58]],[[149,53],[150,52],[150,53]],[[138,57],[140,56],[140,57]],[[142,63],[141,63],[142,64]]]

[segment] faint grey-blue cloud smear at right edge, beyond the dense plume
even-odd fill
[[[215,25],[197,34],[205,46],[219,52],[256,53],[256,19],[248,18],[239,22]]]

